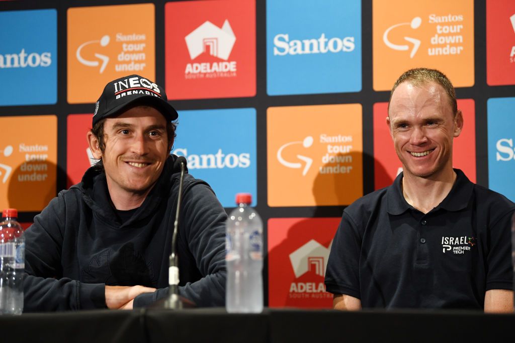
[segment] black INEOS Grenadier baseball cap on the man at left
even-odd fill
[[[93,125],[134,105],[156,107],[169,121],[176,120],[177,111],[168,103],[164,88],[139,75],[129,75],[109,82],[98,98],[93,112]]]

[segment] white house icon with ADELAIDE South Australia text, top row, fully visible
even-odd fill
[[[224,22],[221,28],[206,21],[188,34],[185,40],[192,60],[195,60],[202,53],[209,53],[209,55],[222,60],[222,62],[186,64],[186,70],[184,71],[186,79],[236,76],[236,61],[228,61],[236,41],[228,20]]]

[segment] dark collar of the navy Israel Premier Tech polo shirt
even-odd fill
[[[454,183],[451,191],[444,200],[435,207],[437,209],[444,209],[447,211],[459,211],[467,207],[474,190],[474,184],[470,182],[468,177],[459,169],[454,169],[456,172],[456,182]],[[388,188],[388,213],[399,215],[411,208],[406,202],[402,194],[402,177],[404,173],[400,173],[393,184]]]

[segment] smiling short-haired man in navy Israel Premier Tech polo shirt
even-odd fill
[[[334,308],[513,311],[515,205],[453,169],[464,120],[449,79],[406,71],[386,123],[404,171],[345,209],[325,275]]]

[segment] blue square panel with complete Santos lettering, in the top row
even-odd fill
[[[269,95],[357,92],[361,81],[361,2],[267,1]]]

